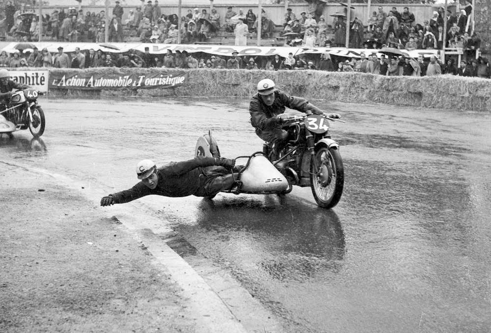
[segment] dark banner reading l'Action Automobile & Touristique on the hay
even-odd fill
[[[142,89],[171,88],[188,82],[188,73],[148,73],[118,75],[115,73],[51,73],[49,87],[57,89]]]

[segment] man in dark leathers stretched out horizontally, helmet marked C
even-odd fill
[[[124,204],[155,194],[165,197],[211,197],[221,190],[234,187],[237,174],[235,159],[194,157],[182,162],[171,162],[157,168],[144,159],[136,165],[136,176],[141,181],[132,188],[109,194],[101,199],[101,206]]]

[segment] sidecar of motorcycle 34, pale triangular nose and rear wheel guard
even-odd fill
[[[220,157],[218,145],[211,135],[198,138],[194,156]],[[247,159],[237,176],[239,186],[225,193],[249,194],[287,194],[292,191],[292,184],[266,158],[262,152],[250,156],[239,156],[236,159]]]

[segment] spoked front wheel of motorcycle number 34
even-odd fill
[[[314,158],[317,161],[315,167]],[[337,147],[321,145],[310,161],[312,194],[319,207],[332,208],[341,199],[344,186],[344,167]]]

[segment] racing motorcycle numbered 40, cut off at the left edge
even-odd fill
[[[37,103],[37,98],[43,93],[35,89],[16,91],[10,97],[5,110],[0,111],[0,134],[29,128],[32,136],[40,137],[44,133],[46,120],[44,111]]]

